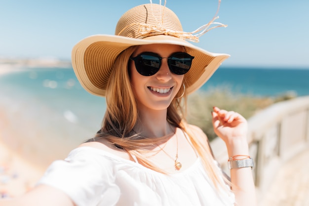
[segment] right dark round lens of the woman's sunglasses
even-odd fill
[[[170,69],[176,75],[184,75],[189,72],[194,57],[187,53],[176,53],[169,59]]]

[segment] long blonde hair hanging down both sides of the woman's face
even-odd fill
[[[165,137],[143,138],[136,133],[132,134],[134,125],[139,121],[138,108],[133,91],[131,89],[128,62],[129,58],[137,46],[131,46],[123,50],[116,58],[114,69],[112,70],[106,91],[107,110],[103,119],[102,128],[96,136],[88,141],[97,141],[105,138],[117,148],[121,148],[131,155],[134,155],[140,164],[145,165],[155,171],[165,173],[158,168],[142,154],[146,152],[145,146],[153,146],[161,142]],[[184,76],[184,85],[186,85],[186,75]],[[182,96],[182,94],[184,95]],[[208,144],[206,135],[203,132],[196,131],[185,121],[187,94],[184,88],[180,89],[167,108],[167,121],[169,124],[181,128],[188,134],[194,150],[202,160],[206,173],[218,188],[223,186],[221,171],[215,165],[211,148]],[[196,137],[197,134],[204,138]]]

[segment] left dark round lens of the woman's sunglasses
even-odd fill
[[[135,67],[143,76],[152,76],[160,69],[160,59],[156,56],[141,54],[136,57]]]

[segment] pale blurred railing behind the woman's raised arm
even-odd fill
[[[309,149],[309,96],[279,102],[260,111],[248,120],[249,150],[257,196],[263,198],[281,165],[305,149]],[[216,159],[227,168],[224,142],[211,142]],[[307,163],[304,163],[307,164]]]

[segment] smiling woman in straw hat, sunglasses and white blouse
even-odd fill
[[[229,181],[206,135],[184,119],[187,95],[229,55],[185,39],[198,38],[183,32],[165,6],[145,4],[123,14],[115,36],[78,42],[72,62],[79,82],[106,97],[102,128],[54,162],[32,191],[0,206],[254,206],[246,120],[217,107],[212,112],[231,157]]]

